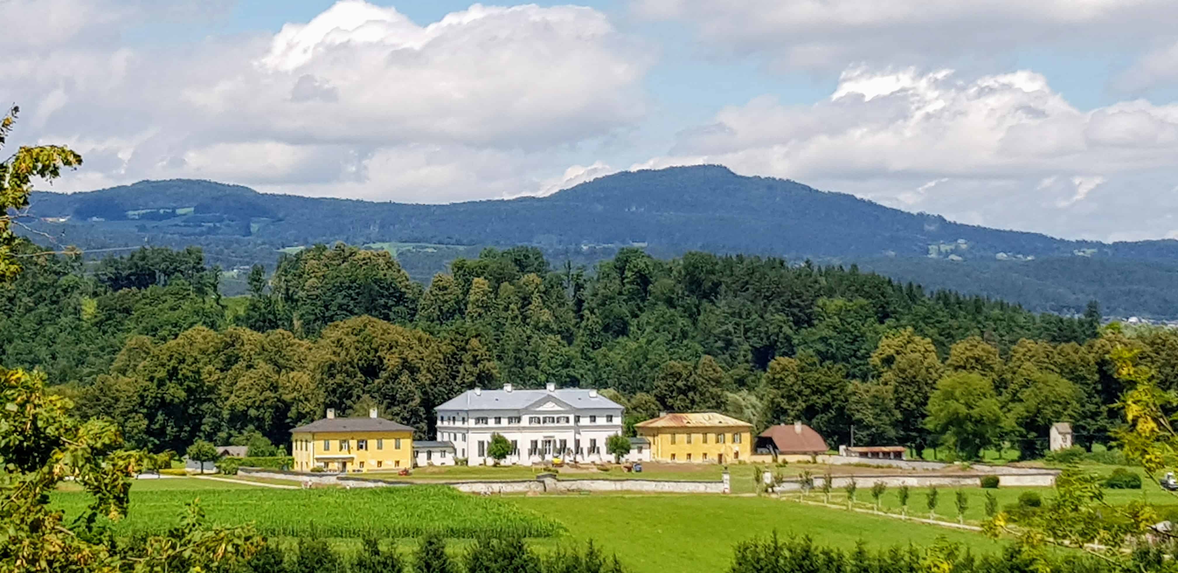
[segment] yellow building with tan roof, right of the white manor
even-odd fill
[[[650,441],[654,461],[732,463],[753,453],[753,424],[714,411],[664,414],[634,427]]]

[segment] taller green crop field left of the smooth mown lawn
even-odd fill
[[[176,489],[184,481],[197,489]],[[214,525],[254,522],[265,535],[330,538],[448,538],[483,534],[545,538],[564,533],[556,520],[508,501],[466,495],[444,486],[372,489],[274,489],[213,480],[146,480],[131,488],[123,533],[158,533],[177,523],[185,503],[200,500]],[[207,486],[207,487],[206,487]],[[221,487],[224,486],[224,487]],[[52,501],[77,515],[90,502],[81,492],[58,492]]]

